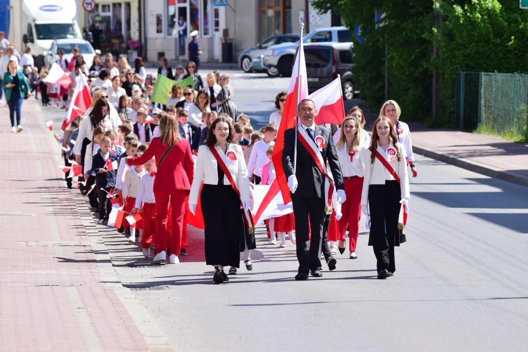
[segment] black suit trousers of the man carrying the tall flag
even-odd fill
[[[317,270],[321,267],[323,224],[326,215],[325,200],[314,195],[309,198],[292,197],[291,202],[294,207],[299,273],[308,274],[310,270]],[[312,231],[311,240],[308,235],[308,221]]]

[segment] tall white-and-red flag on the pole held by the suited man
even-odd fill
[[[280,120],[280,126],[275,140],[275,147],[273,154],[271,155],[271,161],[275,167],[275,173],[277,178],[271,184],[271,187],[266,193],[262,203],[257,209],[257,212],[253,216],[254,223],[259,222],[259,217],[266,210],[268,205],[275,199],[277,193],[282,193],[282,199],[284,204],[291,202],[290,189],[288,188],[288,180],[282,169],[282,150],[284,150],[284,131],[295,127],[295,119],[297,117],[297,92],[300,90],[299,101],[308,98],[308,83],[306,80],[306,62],[304,59],[303,46],[299,46],[297,56],[295,58],[294,68],[290,78],[290,84],[288,86],[288,95],[286,96],[286,104],[284,106],[284,112],[282,112],[282,119]]]

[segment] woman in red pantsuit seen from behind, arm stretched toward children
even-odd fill
[[[180,254],[185,198],[193,182],[194,162],[191,145],[178,132],[178,120],[167,114],[159,121],[159,137],[154,138],[143,155],[127,159],[128,165],[143,165],[152,157],[156,158],[157,172],[154,179],[156,199],[156,255],[153,261],[167,259],[178,263]],[[167,233],[168,205],[171,203],[172,232]],[[167,238],[168,237],[168,238]]]

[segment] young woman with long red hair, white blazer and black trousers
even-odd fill
[[[400,245],[400,209],[406,205],[408,210],[410,198],[406,150],[398,143],[389,118],[382,115],[374,122],[371,146],[361,154],[361,207],[363,214],[371,218],[369,245],[378,260],[378,279],[386,279],[396,271],[394,246]]]

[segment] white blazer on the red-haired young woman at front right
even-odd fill
[[[400,189],[402,198],[410,198],[409,193],[409,176],[407,174],[407,161],[405,156],[407,155],[405,147],[401,144],[397,144],[397,147],[400,149],[401,160],[398,161],[398,158],[394,156],[394,161],[389,161],[389,157],[383,148],[378,144],[378,151],[380,154],[387,158],[389,164],[395,170],[396,174],[400,178]],[[394,148],[392,142],[389,144],[389,148]],[[387,148],[387,150],[389,150]],[[361,151],[362,158],[364,160],[364,178],[363,178],[363,190],[361,192],[361,204],[366,205],[369,201],[369,185],[384,185],[385,180],[394,180],[394,177],[389,173],[389,171],[383,166],[378,158],[374,157],[374,165],[371,163],[371,151],[363,149]]]

